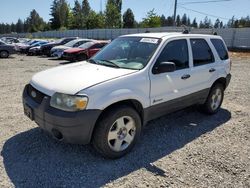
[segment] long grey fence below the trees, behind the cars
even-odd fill
[[[250,28],[222,28],[222,29],[188,29],[190,33],[213,34],[216,32],[226,42],[229,48],[250,49]],[[8,34],[3,36],[33,38],[62,38],[81,37],[92,39],[114,39],[120,35],[145,33],[145,32],[182,32],[183,27],[160,27],[160,28],[133,28],[133,29],[93,29],[93,30],[66,30],[66,31],[46,31],[37,33]]]

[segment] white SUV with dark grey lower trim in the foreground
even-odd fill
[[[24,112],[57,140],[93,143],[118,158],[149,120],[197,104],[216,113],[230,68],[219,36],[121,36],[88,61],[34,75],[23,92]]]

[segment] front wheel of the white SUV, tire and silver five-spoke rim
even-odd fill
[[[141,133],[141,118],[129,106],[114,107],[97,122],[92,144],[105,158],[124,156],[134,147]]]

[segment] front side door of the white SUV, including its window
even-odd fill
[[[192,87],[192,82],[190,81],[192,75],[189,61],[189,50],[186,39],[168,41],[156,60],[154,67],[161,62],[173,62],[176,66],[176,71],[174,72],[161,74],[150,72],[151,108],[157,108],[156,111],[159,116],[171,111],[171,109],[181,108],[178,105],[174,106],[175,102],[180,100],[179,104],[181,104],[181,98],[192,92],[190,89]]]

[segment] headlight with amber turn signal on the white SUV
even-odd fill
[[[55,93],[50,100],[50,106],[69,112],[86,109],[88,97]]]

